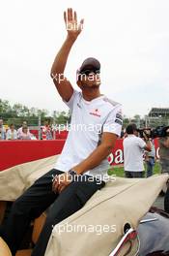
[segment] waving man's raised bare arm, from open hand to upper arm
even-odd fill
[[[77,24],[76,13],[73,12],[71,8],[68,9],[67,12],[64,12],[64,19],[68,35],[62,48],[55,57],[50,76],[53,79],[60,96],[68,102],[73,93],[73,88],[70,81],[65,78],[64,72],[70,54],[70,49],[82,30],[83,19],[81,19],[79,24]]]

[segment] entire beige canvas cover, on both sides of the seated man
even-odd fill
[[[0,172],[0,200],[14,201],[37,178],[54,167],[57,157]],[[116,177],[115,181],[107,182],[82,209],[54,227],[45,256],[108,256],[122,238],[124,225],[128,222],[133,228],[137,227],[167,179],[168,175],[143,179]],[[73,231],[68,232],[68,225],[75,227]],[[107,227],[112,225],[116,232],[107,232]],[[77,231],[77,226],[82,232]]]

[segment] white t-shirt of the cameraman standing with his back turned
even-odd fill
[[[133,134],[127,135],[124,140],[124,165],[125,171],[144,171],[143,153],[146,143]]]

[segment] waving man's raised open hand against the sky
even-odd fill
[[[76,12],[73,12],[71,8],[64,12],[64,19],[69,37],[75,40],[83,29],[84,19],[81,19],[78,24]]]

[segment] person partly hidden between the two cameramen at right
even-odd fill
[[[154,166],[155,166],[155,143],[154,140],[150,138],[150,144],[152,146],[152,150],[145,152],[145,160],[147,165],[147,177],[153,176],[154,174]]]

